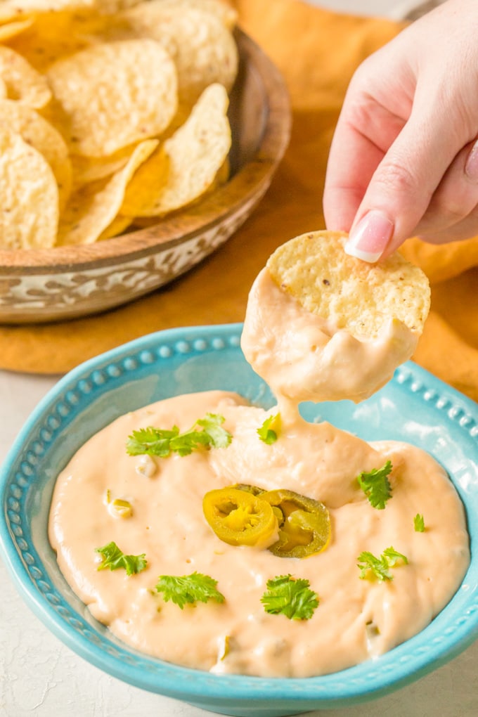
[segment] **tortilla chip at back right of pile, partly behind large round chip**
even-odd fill
[[[178,70],[180,103],[191,107],[213,82],[231,89],[239,56],[234,37],[218,16],[152,0],[125,11],[122,17],[136,37],[157,40],[171,55]]]

